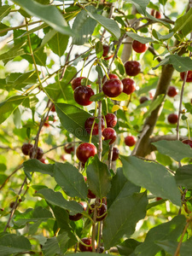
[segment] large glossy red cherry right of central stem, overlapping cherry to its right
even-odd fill
[[[110,79],[102,85],[104,94],[108,97],[117,97],[123,91],[124,86],[119,79]]]

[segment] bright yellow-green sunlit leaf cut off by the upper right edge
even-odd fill
[[[183,38],[192,31],[192,9],[189,9],[185,15],[179,17],[175,21],[175,26],[172,30],[173,32],[182,32]]]

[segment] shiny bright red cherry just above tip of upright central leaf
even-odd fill
[[[84,163],[97,153],[96,146],[91,143],[81,143],[76,150],[77,158],[80,162]]]

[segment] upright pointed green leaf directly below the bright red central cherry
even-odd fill
[[[108,166],[98,159],[97,154],[87,167],[87,182],[90,190],[99,198],[106,196],[111,188]]]

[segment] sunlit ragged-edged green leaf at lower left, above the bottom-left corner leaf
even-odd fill
[[[26,225],[29,222],[45,221],[48,218],[53,218],[51,212],[42,207],[37,207],[35,209],[29,208],[26,212],[17,213],[14,222],[17,226]]]

